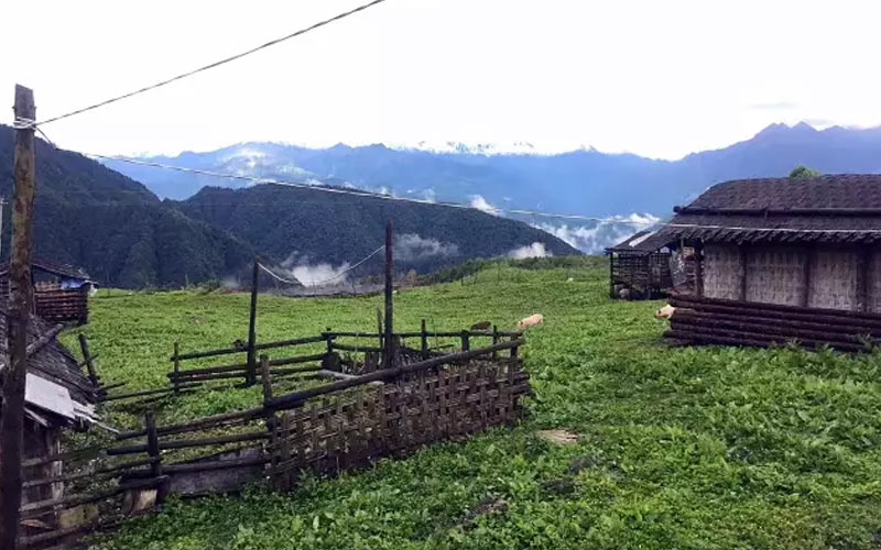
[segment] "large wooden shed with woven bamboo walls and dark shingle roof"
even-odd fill
[[[697,273],[671,336],[849,350],[881,338],[881,175],[726,182],[674,211],[659,238],[692,248]]]

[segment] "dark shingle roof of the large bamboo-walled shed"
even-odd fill
[[[881,242],[881,175],[726,182],[675,211],[667,239]]]

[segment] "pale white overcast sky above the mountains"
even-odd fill
[[[6,2],[0,91],[33,88],[45,119],[362,1]],[[456,141],[678,158],[772,122],[881,124],[879,20],[877,1],[387,0],[43,130],[101,154]]]

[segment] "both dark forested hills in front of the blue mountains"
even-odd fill
[[[0,196],[8,198],[13,132],[0,125]],[[439,205],[391,204],[373,195],[262,185],[209,187],[187,200],[161,200],[135,179],[80,154],[42,140],[35,147],[35,255],[80,266],[106,286],[240,278],[258,253],[284,277],[320,280],[382,244],[385,220],[394,223],[399,271],[424,273],[474,257],[577,253],[514,220]],[[3,257],[10,219],[8,201]],[[376,274],[381,265],[378,255],[355,274]]]

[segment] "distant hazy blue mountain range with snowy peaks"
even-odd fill
[[[502,152],[499,152],[502,151]],[[823,173],[881,170],[881,128],[816,130],[807,123],[771,124],[730,146],[689,154],[677,161],[581,148],[536,154],[527,143],[512,152],[461,143],[416,147],[382,144],[308,148],[248,142],[203,153],[146,160],[226,174],[287,182],[319,182],[359,189],[472,204],[480,207],[542,210],[562,215],[652,221],[672,212],[708,186],[735,178],[784,176],[804,164]],[[510,150],[509,150],[510,151]],[[247,182],[182,174],[109,162],[108,166],[144,183],[160,197],[185,199],[206,185],[242,187]],[[633,218],[637,216],[637,218]],[[520,217],[596,252],[639,229],[633,223],[573,223]]]

